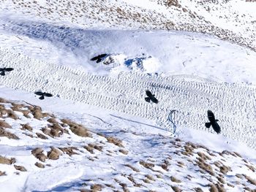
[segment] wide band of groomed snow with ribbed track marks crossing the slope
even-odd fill
[[[121,72],[116,78],[97,76],[9,50],[0,50],[0,61],[15,68],[0,77],[1,85],[29,92],[41,89],[63,99],[155,120],[165,128],[170,128],[170,110],[178,110],[179,127],[212,131],[204,126],[206,111],[211,109],[220,120],[223,135],[256,148],[254,86],[219,83],[192,75],[162,77]],[[156,94],[159,104],[146,103],[148,88]]]

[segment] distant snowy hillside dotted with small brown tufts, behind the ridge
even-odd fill
[[[0,15],[26,15],[79,28],[199,31],[255,50],[255,9],[255,2],[244,0],[5,0]]]

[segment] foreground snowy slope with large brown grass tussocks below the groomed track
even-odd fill
[[[66,112],[69,120],[23,101],[1,99],[0,107],[1,191],[249,191],[256,185],[255,151],[222,136],[187,129],[182,139],[170,138],[108,112]]]

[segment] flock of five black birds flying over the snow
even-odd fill
[[[91,61],[96,61],[97,63],[99,63],[100,61],[102,61],[103,58],[105,58],[106,55],[107,54],[97,55],[96,57],[91,58]],[[12,72],[12,70],[13,68],[10,68],[10,67],[0,68],[0,75],[4,76],[6,72]],[[46,97],[53,96],[51,93],[45,93],[41,91],[36,91],[34,93],[37,96],[39,96],[39,99],[45,99],[45,96]],[[155,97],[154,94],[151,93],[151,91],[146,90],[146,96],[147,97],[145,97],[145,101],[147,101],[148,103],[152,101],[153,103],[158,104],[158,99]],[[208,110],[207,115],[208,115],[208,120],[210,122],[206,123],[206,128],[210,128],[212,126],[212,128],[214,128],[214,131],[217,132],[217,134],[219,134],[221,131],[219,124],[217,123],[219,120],[215,119],[214,112],[212,112],[211,110]]]

